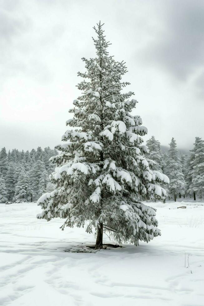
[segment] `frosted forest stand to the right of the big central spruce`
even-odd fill
[[[177,200],[186,196],[194,200],[204,197],[204,141],[195,138],[192,150],[179,154],[176,141],[172,138],[168,152],[162,152],[160,142],[152,136],[147,141],[149,157],[155,161],[152,170],[158,170],[168,176],[170,183],[164,188],[168,200]]]

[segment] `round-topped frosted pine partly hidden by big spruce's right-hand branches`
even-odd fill
[[[155,139],[154,136],[152,136],[150,139],[146,142],[149,153],[147,153],[148,158],[154,161],[154,164],[152,165],[152,170],[157,170],[161,173],[163,173],[163,154],[160,147],[160,142]]]

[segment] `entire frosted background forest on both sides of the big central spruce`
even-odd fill
[[[204,197],[204,141],[196,137],[190,154],[180,154],[176,141],[172,138],[170,148],[162,152],[160,142],[152,136],[147,141],[147,157],[154,161],[152,170],[157,170],[169,177],[165,185],[166,199],[177,200],[186,196],[196,199]],[[56,149],[46,147],[30,152],[13,149],[11,152],[2,148],[0,152],[0,203],[6,201],[36,201],[45,192],[55,189],[49,175],[55,165],[49,161],[58,154]]]

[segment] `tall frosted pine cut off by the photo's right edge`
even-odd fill
[[[193,153],[194,159],[191,162],[191,190],[193,190],[194,200],[196,200],[196,195],[198,195],[200,199],[204,196],[204,140],[202,140],[202,138],[196,137]]]

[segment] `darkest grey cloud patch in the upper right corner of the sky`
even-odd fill
[[[186,80],[204,64],[204,2],[160,2],[160,31],[143,50],[143,61]]]

